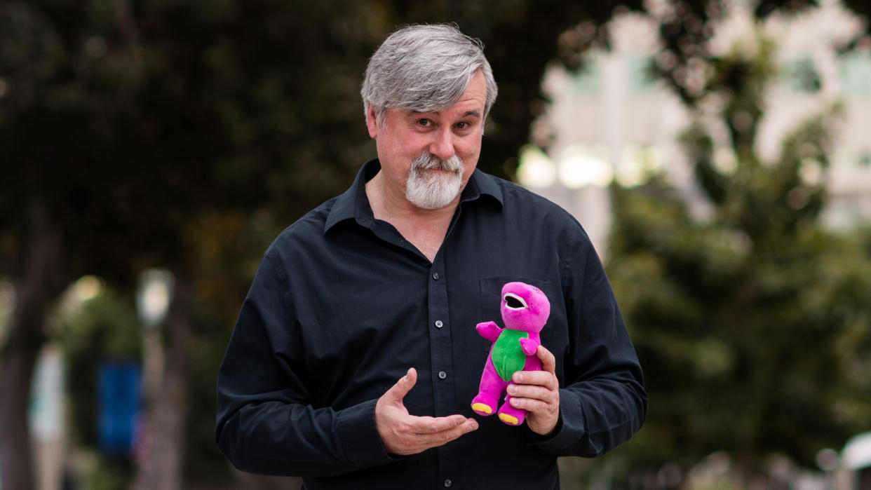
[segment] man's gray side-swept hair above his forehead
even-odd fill
[[[378,125],[383,124],[387,109],[440,111],[463,97],[478,70],[487,87],[486,119],[497,90],[483,43],[453,24],[403,27],[385,39],[369,59],[360,91],[363,111],[371,104]]]

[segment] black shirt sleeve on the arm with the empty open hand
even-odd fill
[[[267,252],[260,264],[220,367],[219,449],[242,471],[301,477],[393,461],[375,428],[375,399],[341,410],[312,405],[276,261]]]

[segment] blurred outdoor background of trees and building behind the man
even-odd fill
[[[867,0],[0,2],[0,488],[294,488],[214,384],[272,239],[375,156],[404,23],[480,37],[485,171],[577,216],[645,368],[563,486],[871,488]]]

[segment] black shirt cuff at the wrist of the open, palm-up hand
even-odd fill
[[[339,412],[336,430],[341,446],[354,467],[375,467],[395,461],[384,450],[381,436],[375,427],[375,403],[377,399],[349,406]]]

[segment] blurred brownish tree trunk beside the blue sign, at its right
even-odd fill
[[[192,344],[192,286],[176,278],[166,317],[165,367],[157,393],[147,400],[145,440],[138,461],[137,490],[179,490],[187,414],[187,373]],[[155,396],[156,395],[156,396]]]

